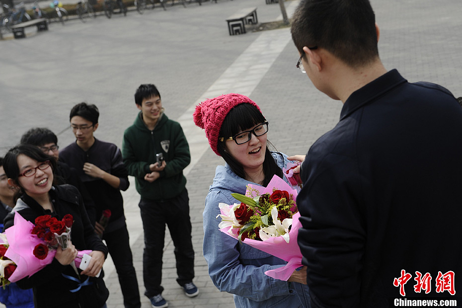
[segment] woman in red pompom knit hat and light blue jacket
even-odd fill
[[[268,149],[268,121],[260,107],[244,95],[225,94],[196,106],[194,122],[226,162],[217,166],[203,213],[203,252],[213,283],[234,295],[236,307],[309,307],[305,268],[294,271],[289,283],[270,278],[264,272],[285,261],[239,243],[218,227],[220,203],[234,204],[231,193],[245,194],[247,184],[266,186],[275,174],[283,178],[289,162],[285,154]]]

